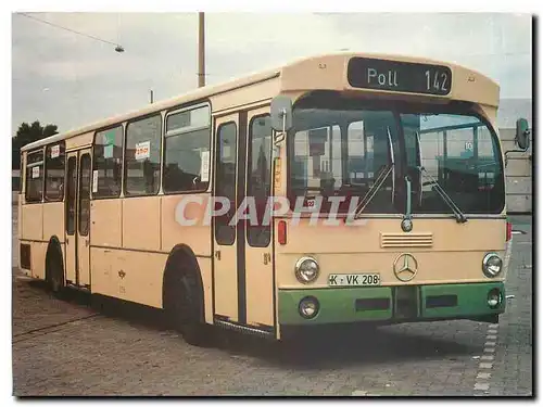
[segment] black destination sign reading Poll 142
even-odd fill
[[[352,58],[346,76],[353,88],[445,96],[451,92],[453,74],[442,65]]]

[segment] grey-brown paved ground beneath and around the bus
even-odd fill
[[[513,221],[527,234],[513,238],[515,298],[497,325],[405,323],[291,343],[232,332],[199,348],[160,311],[60,301],[13,268],[13,394],[531,396],[532,222]]]

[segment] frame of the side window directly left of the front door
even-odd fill
[[[198,131],[198,130],[202,130],[202,129],[205,129],[207,127],[204,127],[204,126],[201,126],[201,127],[194,127],[194,128],[191,128],[190,131],[179,131],[179,130],[174,130],[173,133],[168,135],[167,133],[167,120],[168,120],[168,117],[172,116],[172,115],[175,115],[175,114],[178,114],[178,113],[182,113],[182,112],[187,112],[187,111],[193,111],[193,110],[197,110],[197,109],[200,109],[200,107],[205,107],[207,106],[207,109],[210,110],[210,124],[209,124],[209,142],[207,142],[207,145],[209,145],[209,151],[210,151],[210,175],[209,175],[209,180],[207,180],[207,187],[205,189],[198,189],[198,190],[190,190],[190,191],[166,191],[166,189],[164,188],[164,165],[166,164],[166,138],[167,137],[177,137],[177,136],[180,136],[185,132],[193,132],[193,131]],[[164,114],[164,123],[163,123],[163,130],[162,130],[162,163],[161,163],[161,186],[160,186],[160,190],[162,191],[162,194],[163,195],[186,195],[186,194],[194,194],[194,193],[203,193],[203,192],[210,192],[213,188],[213,151],[214,151],[214,147],[212,145],[213,143],[213,111],[212,111],[212,106],[211,106],[211,102],[207,100],[207,101],[202,101],[202,102],[198,102],[195,104],[190,104],[190,105],[185,105],[185,106],[180,106],[180,107],[173,107],[168,111],[165,112]]]

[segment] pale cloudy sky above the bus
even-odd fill
[[[60,131],[198,86],[198,13],[14,13],[12,135]],[[303,56],[349,50],[426,56],[481,72],[501,98],[532,97],[532,20],[521,13],[206,13],[207,85]]]

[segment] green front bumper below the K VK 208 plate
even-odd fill
[[[496,296],[497,305],[491,306],[489,298]],[[318,310],[313,318],[304,318],[300,311],[301,301],[306,297],[318,302]],[[505,288],[503,282],[495,281],[341,289],[279,289],[278,307],[279,323],[282,326],[364,321],[395,323],[443,319],[493,321],[498,314],[505,311]]]

